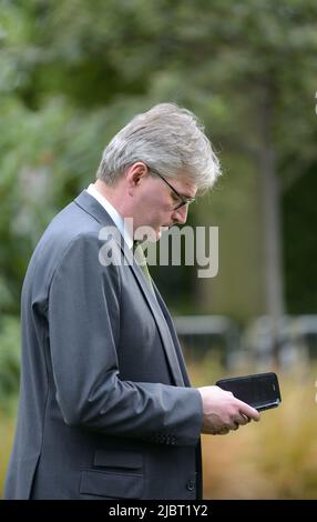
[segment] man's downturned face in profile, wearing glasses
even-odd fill
[[[167,182],[185,198],[194,198],[197,187],[185,178],[166,178]],[[156,240],[161,238],[162,229],[174,224],[184,224],[187,219],[188,205],[176,207],[181,200],[177,194],[158,175],[143,178],[137,191],[137,209],[134,218],[136,227],[151,227]]]

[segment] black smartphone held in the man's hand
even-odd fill
[[[282,402],[278,379],[274,372],[221,379],[216,385],[231,391],[257,411],[277,408]]]

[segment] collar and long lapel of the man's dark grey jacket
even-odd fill
[[[81,207],[85,212],[90,213],[99,223],[105,225],[105,227],[115,227],[114,222],[110,218],[109,213],[105,211],[105,209],[92,197],[86,191],[83,191],[75,200],[74,202]],[[150,290],[144,275],[142,273],[142,270],[140,267],[136,264],[134,257],[129,249],[127,244],[125,243],[124,239],[122,235],[119,233],[117,237],[115,238],[117,244],[120,245],[124,259],[126,260],[127,268],[132,270],[132,273],[134,278],[137,281],[137,284],[144,295],[144,299],[147,302],[147,305],[151,309],[151,312],[153,314],[153,318],[156,322],[156,327],[162,340],[162,344],[167,358],[167,362],[172,372],[172,375],[174,378],[175,384],[177,387],[184,387],[184,379],[183,374],[180,368],[180,362],[176,354],[176,347],[173,341],[173,338],[171,335],[170,331],[170,325],[166,323],[166,320],[163,314],[163,309],[161,309],[161,305],[158,304],[155,295],[153,292]],[[124,272],[123,272],[124,273]],[[158,295],[158,300],[162,301],[162,298],[155,288],[155,293]]]

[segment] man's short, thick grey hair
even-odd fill
[[[166,178],[184,177],[200,192],[221,174],[219,160],[193,112],[160,103],[135,116],[103,151],[96,178],[113,185],[126,168],[143,161]]]

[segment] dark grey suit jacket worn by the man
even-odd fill
[[[7,499],[195,499],[200,392],[171,317],[83,191],[50,223],[22,289],[22,374]]]

